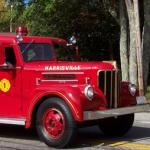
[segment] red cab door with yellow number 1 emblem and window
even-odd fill
[[[13,46],[1,46],[5,65],[0,65],[0,117],[17,118],[21,115],[21,67]]]

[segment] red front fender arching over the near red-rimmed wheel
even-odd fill
[[[79,88],[73,88],[73,87],[63,87],[63,88],[54,88],[50,91],[47,90],[47,88],[38,89],[38,93],[36,96],[33,97],[32,103],[28,107],[28,113],[27,113],[27,120],[26,120],[26,128],[29,128],[31,125],[31,120],[33,116],[33,111],[36,108],[36,106],[42,102],[43,100],[46,100],[48,97],[59,97],[62,100],[66,102],[66,104],[69,106],[72,115],[76,121],[83,121],[83,107],[81,103],[81,91]]]

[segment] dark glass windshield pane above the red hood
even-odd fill
[[[25,62],[54,60],[52,47],[47,43],[20,43]]]

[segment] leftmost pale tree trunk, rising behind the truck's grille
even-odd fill
[[[121,59],[122,80],[129,81],[128,25],[124,0],[120,0],[120,59]]]

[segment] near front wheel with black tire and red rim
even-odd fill
[[[39,138],[50,147],[64,148],[75,138],[76,124],[66,103],[59,98],[48,98],[36,116]]]

